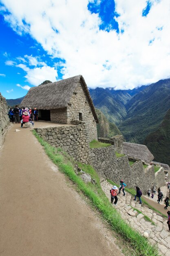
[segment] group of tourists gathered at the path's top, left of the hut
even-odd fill
[[[12,123],[21,123],[21,128],[25,123],[30,122],[32,125],[34,125],[34,121],[38,121],[38,110],[36,108],[33,110],[25,107],[18,108],[18,105],[16,105],[15,108],[9,109],[8,115]]]

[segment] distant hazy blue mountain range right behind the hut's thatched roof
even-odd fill
[[[95,107],[101,110],[106,118],[116,125],[121,124],[127,115],[126,104],[132,99],[133,95],[146,86],[133,90],[115,90],[114,88],[95,88],[89,89]]]

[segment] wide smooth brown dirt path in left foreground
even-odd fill
[[[0,255],[122,255],[32,132],[16,128],[0,151]]]

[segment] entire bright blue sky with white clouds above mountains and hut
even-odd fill
[[[81,74],[88,88],[170,78],[170,0],[0,0],[0,92]]]

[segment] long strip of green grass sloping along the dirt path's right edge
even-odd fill
[[[33,134],[38,139],[40,144],[44,147],[46,154],[56,164],[59,170],[64,173],[79,189],[89,198],[93,207],[95,207],[101,216],[108,222],[110,228],[116,231],[117,234],[128,243],[133,249],[134,255],[136,256],[159,256],[155,246],[150,245],[148,240],[144,238],[139,232],[132,229],[119,215],[115,208],[110,204],[108,198],[102,192],[102,189],[95,174],[95,170],[91,166],[85,166],[78,164],[88,173],[91,173],[92,177],[96,179],[95,184],[85,184],[82,179],[75,174],[73,164],[68,160],[66,155],[62,154],[62,150],[52,147],[46,141],[38,136],[35,130]],[[94,186],[93,186],[94,185]],[[97,190],[97,191],[96,191]]]

